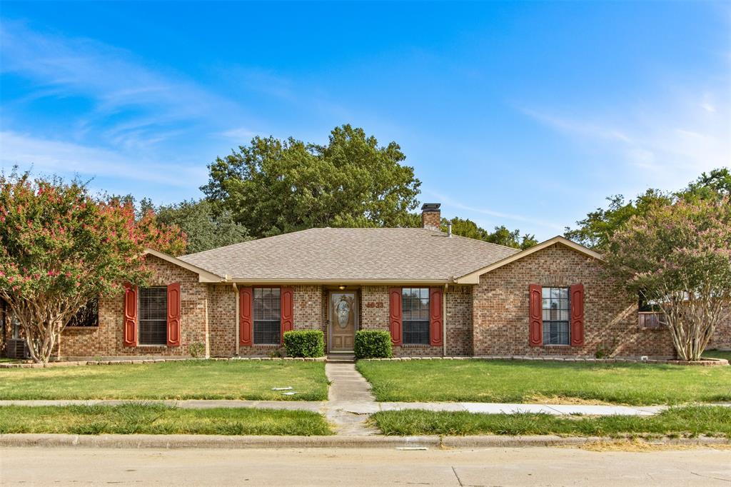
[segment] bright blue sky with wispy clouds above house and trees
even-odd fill
[[[201,197],[254,135],[395,140],[422,201],[539,239],[731,165],[711,2],[0,3],[0,167]]]

